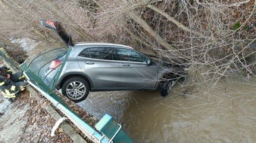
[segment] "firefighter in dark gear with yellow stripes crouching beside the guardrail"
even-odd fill
[[[0,90],[2,95],[13,102],[15,98],[20,96],[20,92],[25,90],[27,82],[24,82],[22,71],[17,71],[12,74],[10,68],[6,66],[0,67]]]

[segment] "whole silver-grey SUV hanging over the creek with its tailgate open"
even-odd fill
[[[48,62],[42,79],[45,84],[61,89],[73,102],[86,99],[89,91],[161,90],[161,95],[167,96],[170,87],[186,77],[183,67],[160,64],[132,47],[108,43],[73,44],[58,22],[41,20],[41,23],[55,29],[69,47],[51,52],[55,53],[55,58]]]

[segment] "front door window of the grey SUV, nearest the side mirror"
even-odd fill
[[[134,50],[129,49],[116,49],[117,60],[130,61],[130,62],[147,62],[147,58]]]

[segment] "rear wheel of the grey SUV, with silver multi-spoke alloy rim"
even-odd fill
[[[81,102],[89,94],[89,85],[83,78],[69,78],[61,88],[62,93],[73,102]]]

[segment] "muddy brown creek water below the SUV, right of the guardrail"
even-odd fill
[[[79,105],[99,119],[110,114],[134,142],[255,142],[256,78],[176,85],[158,91],[90,93]]]

